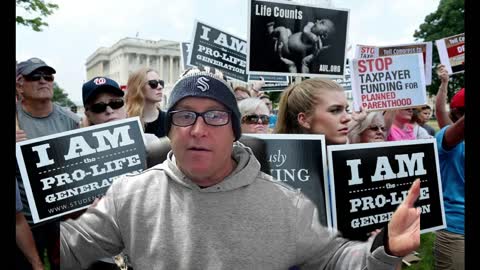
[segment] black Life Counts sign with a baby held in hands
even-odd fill
[[[248,1],[249,74],[342,78],[349,10]]]

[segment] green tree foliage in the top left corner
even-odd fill
[[[24,9],[32,17],[26,18],[24,16],[17,16],[17,24],[30,26],[34,31],[42,31],[42,26],[48,26],[48,23],[43,19],[53,14],[53,11],[58,8],[57,4],[47,3],[44,0],[16,0],[17,8]],[[43,17],[43,18],[42,18]]]

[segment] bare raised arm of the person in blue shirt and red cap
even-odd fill
[[[446,109],[449,76],[444,65],[438,65],[437,75],[440,78],[441,84],[436,96],[435,115],[437,117],[438,126],[442,128],[446,125],[452,124],[452,120],[450,120]]]

